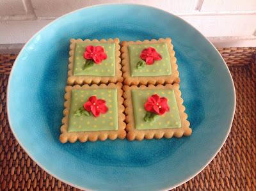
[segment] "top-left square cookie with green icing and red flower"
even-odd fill
[[[122,82],[119,39],[70,40],[68,85]]]

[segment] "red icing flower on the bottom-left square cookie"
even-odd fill
[[[84,109],[88,112],[92,111],[96,118],[99,117],[100,113],[104,114],[108,111],[105,100],[98,100],[97,96],[90,96],[88,102],[84,103]]]

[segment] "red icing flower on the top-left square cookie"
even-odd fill
[[[104,52],[103,47],[100,46],[87,46],[84,51],[85,59],[93,59],[96,64],[102,62],[102,60],[107,58],[107,54]]]

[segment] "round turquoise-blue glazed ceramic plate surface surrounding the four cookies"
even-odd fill
[[[169,36],[191,137],[60,143],[70,38]],[[159,190],[188,181],[223,146],[236,105],[230,72],[202,34],[170,13],[134,4],[84,8],[44,27],[17,57],[7,98],[10,126],[28,155],[65,183],[92,190]]]

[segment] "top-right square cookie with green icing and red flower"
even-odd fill
[[[170,38],[122,42],[122,71],[124,83],[179,83],[179,72]]]

